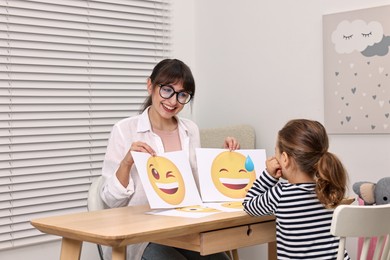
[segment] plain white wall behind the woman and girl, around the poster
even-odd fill
[[[390,4],[390,0],[172,0],[173,55],[192,68],[200,127],[248,123],[271,155],[276,132],[297,117],[323,122],[322,15]],[[390,135],[332,135],[350,183],[389,176]],[[351,195],[353,193],[351,192]],[[356,259],[356,243],[348,244]],[[97,259],[86,243],[81,259]],[[264,246],[239,250],[263,259]],[[0,259],[58,259],[59,243],[0,252]]]

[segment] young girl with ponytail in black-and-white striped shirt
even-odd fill
[[[275,156],[243,205],[253,216],[276,216],[278,259],[336,259],[330,234],[333,210],[344,198],[347,173],[319,122],[289,121],[278,133]],[[279,182],[279,178],[287,182]],[[349,259],[345,253],[345,259]]]

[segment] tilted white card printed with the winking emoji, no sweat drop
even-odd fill
[[[183,151],[157,156],[131,154],[152,209],[202,204],[188,156]]]

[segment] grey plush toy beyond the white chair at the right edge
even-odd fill
[[[364,201],[364,205],[383,205],[390,203],[390,177],[384,177],[377,183],[356,182],[353,191]]]

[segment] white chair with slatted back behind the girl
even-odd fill
[[[347,237],[364,237],[361,260],[367,259],[371,238],[377,237],[373,260],[389,260],[390,204],[340,205],[333,213],[330,232],[340,237],[337,260],[344,259]]]

